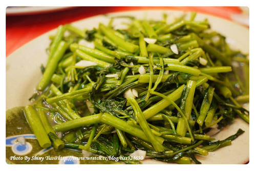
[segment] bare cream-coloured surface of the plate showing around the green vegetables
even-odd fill
[[[159,20],[163,12],[170,14],[169,19],[183,14],[182,11],[129,11],[111,13],[111,16],[132,15],[137,18],[147,18]],[[230,22],[222,18],[211,15],[197,14],[196,20],[207,18],[212,30],[225,35],[232,46],[238,47],[242,52],[249,52],[249,30],[241,25]],[[79,28],[97,28],[99,23],[108,24],[109,18],[103,15],[95,16],[75,22],[73,25]],[[117,24],[123,20],[118,20]],[[50,44],[49,35],[55,34],[52,30],[40,37],[32,40],[22,48],[18,49],[6,60],[6,110],[15,106],[24,106],[29,103],[37,83],[40,80],[41,64],[46,63],[46,48]],[[199,157],[203,164],[242,164],[249,161],[249,125],[241,119],[237,119],[230,126],[216,136],[217,140],[222,140],[233,135],[241,128],[245,131],[239,138],[232,141],[231,146],[218,149],[209,153],[207,157]],[[148,162],[145,163],[155,163]],[[158,163],[158,162],[157,162]]]

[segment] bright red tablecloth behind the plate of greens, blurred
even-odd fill
[[[6,15],[6,57],[30,40],[59,25],[110,12],[148,9],[197,11],[230,19],[241,13],[239,7],[72,7],[37,14]]]

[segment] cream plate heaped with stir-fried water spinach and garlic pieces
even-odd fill
[[[248,47],[248,28],[196,12],[59,26],[7,58],[7,161],[246,163]]]

